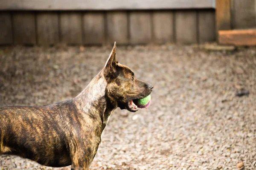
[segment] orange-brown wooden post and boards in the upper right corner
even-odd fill
[[[256,45],[256,0],[217,0],[216,28],[221,44]]]

